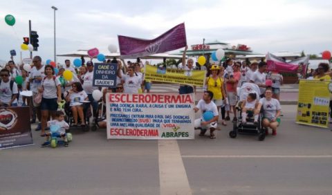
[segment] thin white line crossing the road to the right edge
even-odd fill
[[[332,158],[332,155],[185,155],[182,158]]]

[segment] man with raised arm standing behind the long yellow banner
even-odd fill
[[[188,59],[187,64],[185,63],[185,53],[187,52],[188,46],[185,46],[185,50],[183,51],[182,56],[182,69],[185,71],[185,75],[190,77],[192,75],[192,70],[194,70],[194,60]],[[187,94],[187,93],[196,93],[196,86],[190,85],[180,85],[180,89],[178,89],[178,93]]]

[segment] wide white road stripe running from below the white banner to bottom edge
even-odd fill
[[[160,195],[192,194],[176,140],[158,140]]]

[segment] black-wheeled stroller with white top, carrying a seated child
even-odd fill
[[[249,93],[256,93],[257,98],[259,98],[260,91],[257,84],[245,83],[239,89],[239,102],[237,104],[237,115],[241,118],[241,104],[243,100],[246,100]],[[258,123],[255,124],[253,114],[248,114],[247,122],[243,123],[242,120],[237,120],[233,122],[233,130],[230,131],[230,138],[236,138],[237,133],[246,134],[257,134],[258,140],[262,141],[265,139],[265,129],[261,126],[261,113],[259,114]]]

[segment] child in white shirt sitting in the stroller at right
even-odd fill
[[[241,109],[242,109],[242,122],[246,123],[246,118],[248,113],[254,113],[254,123],[258,123],[258,111],[257,111],[258,101],[256,93],[249,93],[247,100],[243,100]]]

